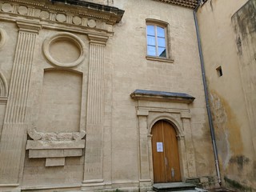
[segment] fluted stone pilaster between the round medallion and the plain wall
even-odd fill
[[[104,51],[107,37],[90,39],[89,82],[86,119],[86,156],[83,186],[103,180]],[[82,187],[83,190],[83,187]]]

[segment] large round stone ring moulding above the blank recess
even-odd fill
[[[58,33],[43,42],[43,53],[47,60],[62,67],[78,66],[86,57],[85,44],[70,33]]]

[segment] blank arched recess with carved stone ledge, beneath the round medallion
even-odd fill
[[[82,156],[86,130],[81,119],[83,74],[65,67],[44,70],[38,122],[30,126],[29,158],[46,158],[46,166],[65,166],[66,157]]]

